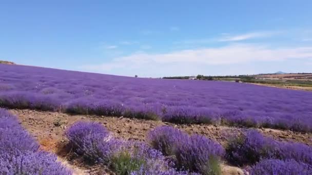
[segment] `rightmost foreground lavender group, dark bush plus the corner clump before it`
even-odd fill
[[[226,159],[237,166],[248,165],[251,174],[311,174],[312,147],[280,142],[256,130],[236,136],[226,146]]]

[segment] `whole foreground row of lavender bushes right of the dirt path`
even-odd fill
[[[169,126],[149,132],[148,145],[115,139],[103,125],[90,122],[73,124],[66,136],[76,154],[118,174],[221,174],[222,160],[250,174],[312,173],[312,147],[278,142],[255,130],[230,140],[225,149],[204,136],[189,136]]]

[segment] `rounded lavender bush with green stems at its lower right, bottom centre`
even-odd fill
[[[201,174],[221,174],[219,160],[224,154],[219,143],[200,135],[182,140],[175,151],[178,168]]]

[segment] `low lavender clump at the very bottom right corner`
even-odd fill
[[[284,174],[312,174],[312,167],[305,163],[296,162],[295,160],[263,160],[258,164],[247,168],[252,175],[284,175]]]

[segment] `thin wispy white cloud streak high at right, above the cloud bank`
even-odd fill
[[[219,41],[241,41],[253,38],[263,38],[269,37],[272,35],[277,34],[276,32],[252,32],[252,33],[245,33],[240,35],[229,35],[224,34],[223,37],[219,39]]]

